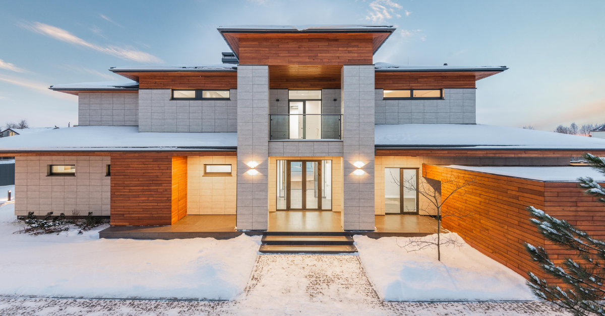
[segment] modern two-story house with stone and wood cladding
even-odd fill
[[[529,204],[600,231],[603,207],[573,183],[589,169],[569,164],[605,155],[605,140],[477,124],[476,82],[508,68],[374,62],[394,30],[220,27],[223,64],[51,86],[78,96],[78,124],[0,140],[16,156],[15,213],[92,211],[180,237],[422,233],[434,210],[397,183],[458,176],[478,179],[451,200],[473,214],[445,228],[517,272],[536,270],[523,242],[544,244]]]

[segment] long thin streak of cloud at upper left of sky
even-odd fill
[[[93,50],[99,51],[101,53],[105,53],[111,56],[116,56],[120,59],[125,60],[134,60],[135,62],[141,63],[161,63],[162,59],[153,56],[152,54],[145,53],[139,50],[132,50],[129,48],[122,48],[116,46],[101,46],[97,44],[92,44],[87,42],[86,40],[80,39],[80,37],[71,34],[70,32],[58,28],[53,27],[52,25],[33,22],[33,23],[22,23],[19,24],[20,27],[25,28],[26,30],[33,31],[38,34],[42,34],[44,36],[52,37],[57,40],[61,40],[63,42],[67,42],[72,45],[79,45],[82,47],[91,48]]]

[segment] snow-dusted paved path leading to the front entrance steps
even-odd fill
[[[0,297],[0,315],[568,315],[537,301],[386,302],[357,256],[263,255],[234,301]]]

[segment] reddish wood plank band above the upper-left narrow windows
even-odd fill
[[[237,89],[235,71],[117,74],[139,82],[139,89]]]

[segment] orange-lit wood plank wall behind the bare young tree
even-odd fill
[[[443,227],[459,234],[486,256],[526,277],[532,271],[546,277],[526,253],[524,244],[545,247],[555,263],[574,253],[545,242],[529,223],[528,205],[540,208],[555,218],[565,219],[595,237],[605,236],[605,204],[584,195],[574,182],[543,182],[510,176],[491,175],[424,165],[423,176],[431,179],[459,177],[476,182],[452,196],[443,205],[443,213],[463,210],[462,218],[445,218]],[[442,185],[442,196],[452,188]],[[549,282],[555,280],[546,278]]]

